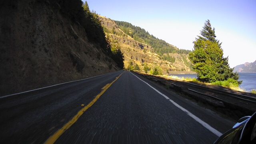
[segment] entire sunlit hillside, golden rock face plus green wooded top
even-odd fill
[[[114,21],[104,16],[99,18],[112,46],[120,48],[124,54],[125,68],[132,62],[133,65],[138,64],[140,70],[147,64],[151,68],[160,66],[163,72],[191,71],[191,62],[188,59],[190,51],[179,50],[130,23]]]

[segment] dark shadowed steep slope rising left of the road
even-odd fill
[[[120,70],[89,33],[81,5],[0,2],[0,96]]]

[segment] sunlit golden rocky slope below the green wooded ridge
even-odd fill
[[[191,62],[188,59],[188,54],[179,54],[177,52],[157,54],[150,44],[145,44],[134,40],[131,36],[123,32],[114,20],[99,16],[104,31],[109,37],[112,46],[120,47],[124,53],[124,66],[128,67],[130,62],[138,64],[140,70],[143,70],[144,64],[150,67],[158,65],[162,68],[163,72],[168,71],[191,71]],[[173,50],[179,50],[172,46]],[[172,60],[170,60],[172,59]]]

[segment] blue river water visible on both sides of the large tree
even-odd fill
[[[196,74],[171,74],[172,76],[178,77],[191,77],[197,78]],[[238,73],[239,80],[242,80],[242,84],[239,86],[240,88],[250,92],[252,89],[256,90],[256,72],[240,72]]]

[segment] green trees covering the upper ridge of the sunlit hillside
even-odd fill
[[[120,21],[115,22],[124,33],[134,38],[134,40],[149,44],[154,49],[154,52],[161,56],[168,53],[188,54],[190,52],[190,50],[177,49],[164,40],[156,38],[152,34],[150,35],[145,29],[134,26],[131,23]]]

